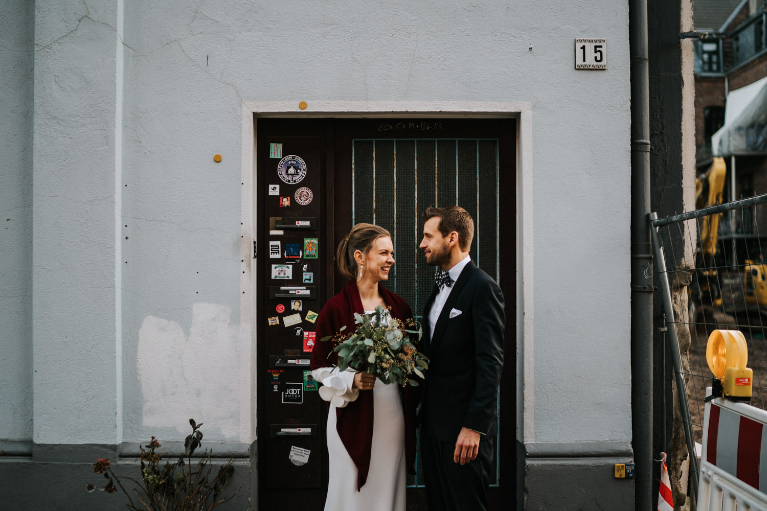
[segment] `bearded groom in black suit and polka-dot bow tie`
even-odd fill
[[[503,294],[469,257],[474,222],[458,206],[427,208],[419,247],[439,267],[423,314],[429,371],[420,409],[430,511],[487,509],[503,369]]]

